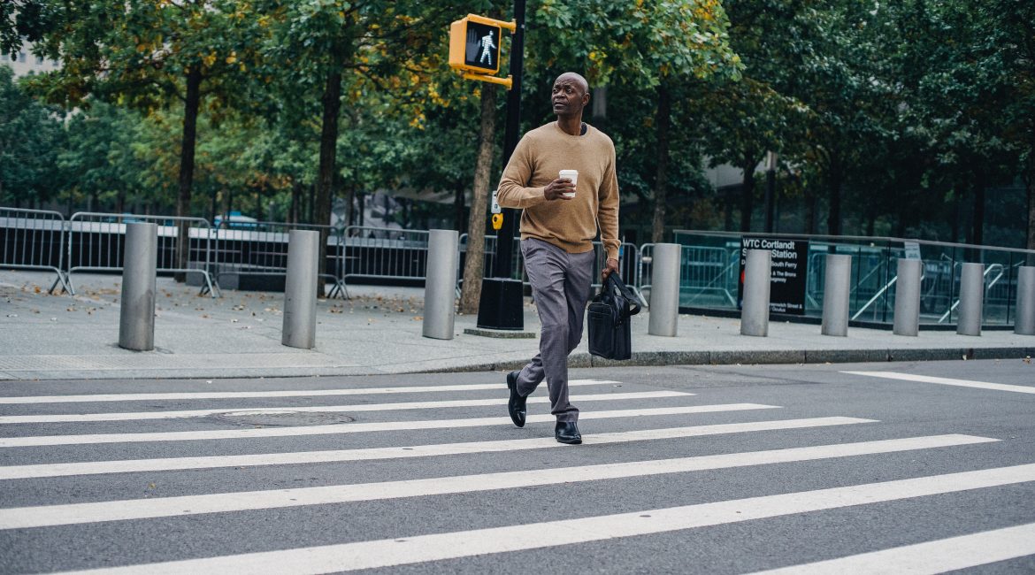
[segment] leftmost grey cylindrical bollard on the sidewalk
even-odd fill
[[[155,269],[158,266],[158,225],[127,223],[122,264],[122,302],[119,347],[154,350]]]

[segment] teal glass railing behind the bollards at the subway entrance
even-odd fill
[[[955,324],[960,269],[967,262],[984,264],[983,324],[1012,325],[1017,269],[1035,261],[1035,251],[1031,250],[900,238],[677,231],[675,241],[683,246],[680,306],[738,309],[744,237],[807,243],[807,248],[801,247],[796,256],[790,250],[783,253],[794,261],[788,264],[797,274],[790,290],[798,301],[803,301],[799,314],[810,317],[823,313],[826,255],[851,255],[849,316],[855,322],[878,324],[893,321],[899,258],[923,262],[920,323],[925,325]]]

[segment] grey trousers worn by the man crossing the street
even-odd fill
[[[586,300],[593,274],[593,251],[568,253],[541,240],[522,240],[525,272],[539,311],[539,354],[518,375],[518,393],[529,395],[542,380],[550,389],[550,413],[557,421],[579,421],[568,402],[568,354],[582,339]]]

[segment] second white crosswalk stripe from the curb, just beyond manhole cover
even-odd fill
[[[500,388],[497,388],[499,391]],[[389,403],[358,403],[351,405],[301,405],[278,407],[220,407],[218,410],[185,410],[176,412],[113,412],[100,414],[54,414],[31,416],[0,416],[0,424],[18,423],[83,423],[89,421],[143,421],[155,419],[184,419],[207,417],[216,414],[233,413],[359,413],[388,412],[402,410],[448,410],[455,407],[481,407],[487,405],[506,405],[506,388],[502,388],[501,397],[483,399],[449,399],[444,401],[402,401]],[[624,393],[600,393],[592,395],[573,395],[572,403],[582,401],[627,401],[632,399],[660,399],[666,397],[688,397],[692,393],[682,391],[635,391]],[[550,403],[546,396],[529,397],[528,403]]]

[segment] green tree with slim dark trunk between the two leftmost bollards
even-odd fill
[[[70,108],[93,95],[144,111],[182,104],[176,214],[191,215],[203,101],[214,109],[242,93],[267,21],[250,2],[234,0],[52,0],[41,9],[47,24],[36,50],[62,62],[34,82],[49,100]],[[180,246],[186,267],[187,244]]]

